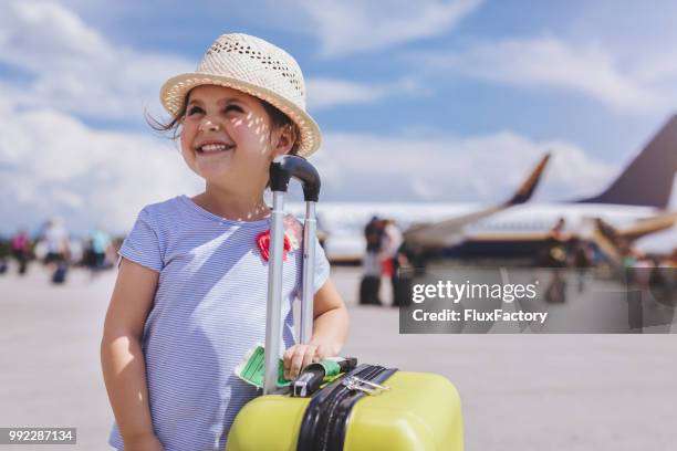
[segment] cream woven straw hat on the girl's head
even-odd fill
[[[160,102],[176,116],[186,93],[213,84],[259,97],[287,114],[301,132],[299,155],[320,147],[320,127],[305,112],[305,83],[301,67],[285,51],[262,39],[233,33],[219,36],[205,52],[196,72],[174,76],[160,88]]]

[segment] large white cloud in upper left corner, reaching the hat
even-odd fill
[[[195,67],[117,46],[54,1],[0,3],[0,63],[25,74],[4,83],[15,104],[127,120],[157,104],[166,78]]]

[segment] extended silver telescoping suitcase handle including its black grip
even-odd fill
[[[265,313],[265,376],[263,395],[272,394],[278,380],[278,350],[282,331],[282,256],[284,247],[284,195],[289,181],[299,179],[305,200],[303,227],[303,277],[301,281],[301,337],[310,342],[313,329],[313,273],[315,263],[315,203],[320,196],[320,175],[304,158],[293,155],[278,157],[270,165],[270,188],[273,209],[270,227],[270,259],[268,268],[268,307]]]

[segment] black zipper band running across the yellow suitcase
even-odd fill
[[[367,392],[373,391],[364,385],[378,385],[395,371],[396,369],[377,365],[361,365],[344,378],[315,394],[305,411],[296,450],[342,450],[346,421],[353,406]],[[345,380],[348,382],[345,384]]]

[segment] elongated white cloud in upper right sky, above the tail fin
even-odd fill
[[[649,85],[594,44],[573,45],[556,38],[504,40],[425,60],[457,74],[511,86],[577,91],[621,111],[645,112],[660,103]]]

